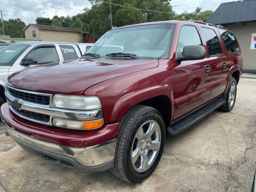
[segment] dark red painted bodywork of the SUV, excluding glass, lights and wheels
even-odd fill
[[[71,147],[97,145],[117,137],[118,122],[134,105],[157,96],[170,100],[170,125],[212,98],[227,90],[231,75],[239,70],[242,74],[242,54],[226,52],[218,30],[187,21],[162,21],[141,23],[174,23],[176,25],[170,58],[164,60],[139,59],[82,59],[47,67],[33,67],[9,77],[11,86],[44,93],[98,95],[101,101],[105,125],[97,131],[70,131],[31,123],[1,108],[4,120],[21,132],[44,141]],[[183,25],[195,26],[206,49],[206,58],[194,61],[175,60],[180,29]],[[138,26],[138,25],[136,25]],[[201,27],[213,29],[222,47],[222,55],[209,57]],[[222,68],[222,62],[227,67]],[[205,72],[204,66],[211,71]]]

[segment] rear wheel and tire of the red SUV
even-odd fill
[[[234,77],[231,77],[231,81],[228,86],[228,91],[224,93],[223,99],[225,100],[225,103],[220,106],[220,110],[229,112],[233,109],[236,101],[236,92],[237,92],[237,84],[236,79]]]

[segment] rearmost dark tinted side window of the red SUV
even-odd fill
[[[218,29],[228,53],[241,52],[240,46],[233,33],[225,29]]]

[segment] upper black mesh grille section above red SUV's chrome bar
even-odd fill
[[[31,101],[31,102],[43,104],[43,105],[49,105],[49,103],[50,103],[49,96],[21,92],[21,91],[14,90],[11,87],[9,87],[8,90],[11,93],[11,95],[13,95],[14,97],[19,98],[19,99],[24,99],[27,101]]]

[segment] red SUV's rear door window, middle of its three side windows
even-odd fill
[[[213,29],[202,28],[204,38],[208,47],[209,55],[222,54],[219,38]]]

